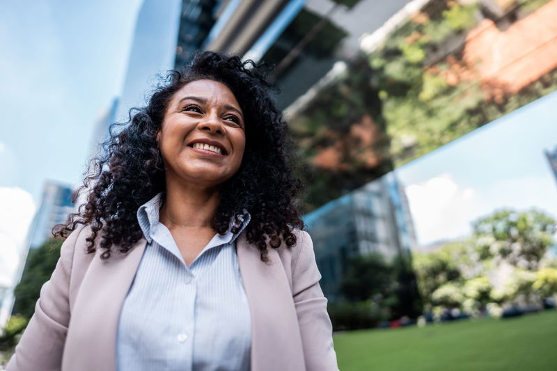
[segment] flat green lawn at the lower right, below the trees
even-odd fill
[[[356,370],[557,370],[557,310],[423,328],[334,336],[338,368]]]

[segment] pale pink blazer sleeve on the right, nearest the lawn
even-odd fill
[[[327,298],[319,285],[313,242],[307,232],[297,236],[297,256],[292,260],[292,297],[298,316],[307,371],[336,371],[333,326],[327,313]]]

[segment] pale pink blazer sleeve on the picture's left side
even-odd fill
[[[62,244],[60,258],[40,298],[6,371],[60,371],[65,337],[70,323],[70,276],[79,226]]]

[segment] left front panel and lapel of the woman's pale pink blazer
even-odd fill
[[[120,310],[145,246],[146,240],[141,238],[126,255],[116,252],[109,260],[101,260],[100,251],[95,253],[75,299],[63,370],[116,371]]]

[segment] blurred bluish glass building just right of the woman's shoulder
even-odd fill
[[[405,191],[394,173],[323,205],[304,216],[313,239],[322,289],[340,299],[347,260],[379,253],[388,261],[410,258],[416,245]]]

